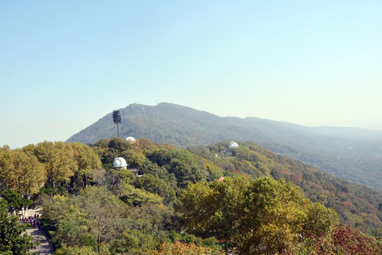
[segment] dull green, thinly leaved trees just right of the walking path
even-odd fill
[[[44,196],[42,208],[58,245],[99,247],[123,231],[126,207],[105,187],[88,186],[76,197]]]

